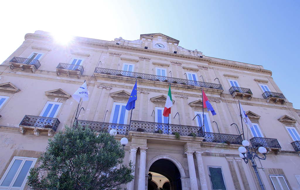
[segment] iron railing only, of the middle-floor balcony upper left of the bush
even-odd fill
[[[56,131],[59,124],[60,121],[58,120],[58,118],[25,115],[25,117],[22,119],[19,125],[28,127],[39,127],[45,129],[47,128]]]

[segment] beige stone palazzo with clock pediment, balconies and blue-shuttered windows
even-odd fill
[[[60,44],[36,31],[0,71],[0,189],[28,187],[26,172],[48,138],[73,123],[78,104],[71,95],[85,80],[89,101],[80,103],[78,121],[128,138],[125,163],[135,163],[129,190],[160,187],[160,177],[171,190],[259,190],[251,163],[239,156],[243,139],[252,151],[267,148],[266,160],[255,159],[265,189],[300,189],[298,110],[262,66],[207,57],[160,33]],[[125,105],[136,80],[130,124]],[[162,113],[169,85],[168,125]],[[202,89],[217,115],[206,108],[202,114]],[[242,129],[238,101],[251,127],[243,121]]]

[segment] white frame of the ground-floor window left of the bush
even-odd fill
[[[16,171],[16,173],[15,173],[12,181],[10,182],[10,186],[1,186],[1,184],[3,183],[4,179],[6,178],[8,172],[10,171],[10,168],[12,167],[12,165],[15,162],[16,159],[22,160],[22,162],[21,162],[18,170]],[[6,171],[4,172],[4,174],[3,174],[3,176],[2,176],[2,178],[0,180],[0,189],[7,189],[7,190],[10,190],[10,189],[15,189],[15,190],[16,189],[20,189],[20,190],[24,189],[24,186],[26,185],[26,182],[27,182],[27,176],[29,176],[29,170],[30,170],[30,168],[29,168],[29,170],[28,170],[28,172],[26,174],[26,177],[25,177],[25,179],[24,179],[21,187],[12,187],[12,186],[15,183],[17,177],[19,176],[19,173],[22,170],[25,161],[27,161],[27,160],[33,161],[32,164],[31,164],[31,166],[30,166],[30,168],[33,168],[35,166],[35,162],[38,160],[38,158],[28,158],[28,157],[13,156],[13,159],[11,160],[10,164],[8,165]]]

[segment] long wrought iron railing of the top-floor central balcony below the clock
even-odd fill
[[[151,74],[145,74],[145,73],[120,71],[120,70],[105,69],[105,68],[99,68],[99,67],[96,67],[94,73],[141,78],[141,79],[146,79],[146,80],[157,80],[157,81],[163,81],[163,82],[168,82],[168,83],[179,83],[179,84],[185,84],[185,85],[191,85],[191,86],[199,86],[199,87],[204,87],[204,88],[223,90],[222,85],[220,85],[220,84],[205,83],[205,82],[200,82],[200,81],[186,80],[186,79],[173,78],[173,77],[162,77],[162,76],[158,76],[158,75],[151,75]]]

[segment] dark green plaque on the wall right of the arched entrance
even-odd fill
[[[226,190],[224,175],[220,166],[208,166],[208,173],[212,189]]]

